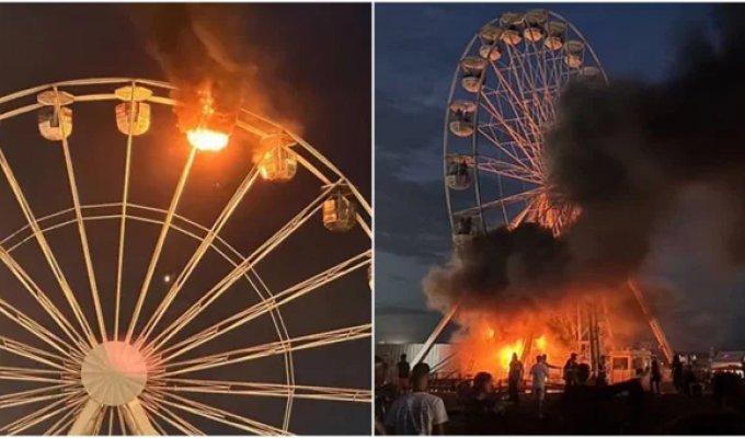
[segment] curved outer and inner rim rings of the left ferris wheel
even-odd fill
[[[37,85],[37,87],[34,87],[34,88],[30,88],[30,89],[16,91],[16,92],[13,92],[11,94],[7,94],[7,95],[0,97],[0,108],[2,108],[2,106],[12,104],[14,101],[22,100],[24,97],[34,96],[34,95],[43,92],[43,91],[54,90],[54,92],[56,93],[58,89],[69,90],[71,88],[74,89],[74,88],[78,88],[78,87],[85,88],[85,87],[115,85],[115,84],[133,85],[133,87],[135,87],[135,85],[148,85],[148,87],[157,88],[159,90],[168,91],[168,92],[175,89],[173,85],[169,84],[168,82],[149,80],[149,79],[136,79],[136,78],[79,79],[79,80],[47,83],[47,84]],[[98,101],[119,101],[121,102],[121,99],[114,93],[80,93],[80,94],[77,94],[74,96],[74,99],[78,103],[98,102]],[[156,103],[156,104],[169,105],[169,106],[173,106],[173,105],[177,104],[176,101],[172,100],[169,96],[156,96],[156,95],[153,95],[151,97],[148,97],[145,101]],[[26,113],[36,111],[36,110],[41,108],[42,106],[43,105],[36,103],[36,104],[28,104],[28,105],[15,107],[15,108],[12,108],[12,110],[0,111],[0,120],[8,120],[8,119],[15,118],[15,117],[24,115]],[[248,132],[248,134],[257,134],[255,130],[251,130],[247,127],[248,125],[247,125],[245,120],[243,120],[241,118],[241,115],[254,117],[254,118],[260,118],[260,119],[264,120],[265,123],[267,123],[268,125],[276,128],[278,131],[288,135],[293,140],[295,140],[296,143],[298,146],[300,146],[300,148],[302,148],[302,150],[308,152],[309,155],[310,155],[310,157],[305,157],[300,153],[296,153],[296,155],[298,158],[298,162],[306,170],[308,170],[311,174],[313,174],[313,176],[316,176],[316,178],[319,180],[322,183],[322,185],[332,186],[332,187],[339,186],[339,185],[344,185],[344,186],[348,187],[351,195],[354,196],[357,204],[363,207],[362,211],[359,209],[357,209],[357,211],[355,212],[356,221],[360,226],[362,230],[365,232],[367,238],[371,239],[371,230],[370,230],[371,208],[370,208],[367,199],[362,195],[359,189],[330,160],[328,160],[323,154],[321,154],[310,143],[308,143],[308,141],[306,141],[303,138],[301,138],[297,134],[289,131],[284,126],[277,124],[274,120],[271,120],[271,119],[268,119],[264,116],[261,116],[259,114],[252,113],[251,111],[245,110],[245,108],[240,108],[239,119],[238,119],[238,123],[236,125],[236,127],[241,129],[242,131]],[[130,135],[130,138],[131,138],[131,135]],[[81,204],[78,208],[82,208],[83,210],[85,210],[85,209],[91,209],[91,208],[95,209],[98,207],[107,207],[107,206],[108,207],[111,207],[111,206],[116,207],[117,205],[122,206],[123,204],[124,203],[101,203],[101,204],[87,204],[87,205]],[[127,205],[127,207],[133,208],[133,209],[142,208],[142,209],[146,209],[146,210],[149,209],[150,211],[158,211],[159,214],[165,214],[167,212],[162,208],[148,207],[148,206],[138,205],[138,204],[135,204],[135,203],[131,203],[131,201],[126,201],[126,205]],[[64,215],[64,214],[69,214],[74,208],[76,207],[61,209],[61,210],[53,212],[50,215],[36,218],[36,220],[44,221],[45,219],[50,219],[50,218],[55,218],[55,217]],[[187,217],[184,217],[184,216],[179,215],[176,212],[173,212],[173,217],[176,220],[184,221],[184,222],[188,223],[190,226],[194,226],[194,227],[198,228],[199,231],[209,232],[209,229],[207,229],[205,226],[197,223],[197,222],[194,222],[193,220],[188,219]],[[146,222],[149,221],[151,223],[160,223],[160,224],[164,226],[163,221],[158,221],[158,220],[152,220],[152,219],[148,220],[145,217],[137,217],[136,215],[133,215],[133,212],[127,212],[124,216],[123,215],[107,215],[107,217],[105,217],[105,218],[87,217],[87,216],[83,215],[81,220],[85,221],[85,220],[117,219],[117,218],[119,218],[119,219],[144,220]],[[74,219],[68,220],[66,223],[64,223],[61,226],[59,226],[59,224],[55,226],[55,229],[60,228],[60,227],[67,227],[67,226],[73,224],[74,222],[76,222]],[[186,232],[183,229],[180,229],[177,227],[177,224],[175,224],[175,223],[169,223],[168,228],[177,230],[181,233],[190,235],[188,232]],[[50,231],[50,230],[47,230],[47,231]],[[12,238],[13,235],[16,235],[16,234],[23,233],[23,232],[31,232],[32,234],[26,237],[19,244],[14,245],[13,249],[19,247],[20,245],[23,245],[25,242],[27,242],[28,240],[31,240],[33,238],[34,232],[33,232],[33,230],[31,230],[31,223],[26,223],[24,227],[21,227],[21,229],[15,230],[14,232],[10,233],[7,238],[4,238],[2,240],[2,243],[0,243],[0,246],[4,245],[4,243],[10,238]],[[44,233],[46,231],[42,231],[42,232]],[[193,239],[196,239],[197,241],[199,241],[200,239],[204,239],[204,237],[199,238],[199,237],[196,237],[194,234],[192,234],[191,237]],[[218,242],[224,244],[224,245],[227,245],[227,247],[230,251],[232,251],[236,255],[238,255],[238,257],[240,260],[245,258],[244,255],[242,255],[240,252],[234,250],[221,237],[216,235],[214,239],[215,239],[215,241],[213,241],[209,244],[209,249],[220,253],[220,255],[222,255],[222,257],[226,258],[226,261],[233,264],[233,266],[236,265],[236,262],[226,257],[220,252],[220,250],[216,246]],[[253,267],[251,267],[250,272],[247,272],[242,277],[248,278],[248,275],[251,274],[251,273],[253,273],[253,275],[261,283],[261,285],[264,289],[264,293],[267,293],[270,298],[273,297],[274,292],[264,284],[261,276],[259,275],[259,273]],[[266,300],[266,297],[264,297],[262,295],[262,291],[260,290],[260,288],[256,288],[254,286],[253,289],[257,293],[257,296],[260,297],[260,300],[262,300],[262,299]],[[287,331],[284,318],[282,316],[282,309],[279,309],[279,308],[271,309],[270,314],[272,315],[273,323],[274,323],[275,328],[276,328],[276,334],[277,334],[277,337],[279,338],[279,341],[283,344],[289,343],[291,338],[290,338],[289,333]],[[277,323],[277,320],[275,320],[275,316],[278,318],[278,321],[279,321],[278,323]],[[300,388],[301,385],[295,384],[293,350],[287,349],[282,355],[285,357],[285,374],[286,374],[286,380],[287,380],[287,388]],[[317,387],[308,387],[308,388],[317,388]],[[320,387],[318,387],[318,388],[320,388]],[[363,394],[363,392],[364,391],[360,392],[362,399],[359,399],[359,400],[355,399],[355,401],[365,401],[365,400],[363,400],[363,399],[365,399],[365,395]],[[294,390],[289,390],[287,395],[286,395],[287,404],[286,404],[286,408],[285,408],[285,419],[284,419],[284,423],[283,423],[283,430],[285,430],[285,431],[287,431],[287,429],[288,429],[289,415],[291,413],[291,405],[293,405],[293,401],[294,401],[295,396],[296,396],[296,394],[295,394]],[[368,396],[368,399],[369,399],[369,396]]]

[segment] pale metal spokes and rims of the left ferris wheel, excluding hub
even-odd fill
[[[80,105],[95,102],[122,102],[114,93],[118,87],[147,87],[153,94],[142,102],[158,105],[175,105],[170,97],[173,87],[160,81],[133,78],[103,78],[83,79],[74,81],[56,82],[31,88],[0,97],[0,122],[9,123],[15,117],[33,113],[45,105],[35,102],[38,93],[50,91],[55,96],[54,108],[59,112],[61,105],[67,104],[59,99],[61,92],[74,94],[74,103]],[[135,96],[133,93],[131,101]],[[134,112],[129,115],[129,126],[134,122]],[[208,418],[242,433],[285,435],[289,430],[293,401],[308,399],[314,401],[336,401],[353,403],[369,403],[371,393],[366,389],[328,388],[318,385],[301,385],[295,383],[295,365],[293,351],[303,348],[318,348],[341,342],[363,339],[371,336],[371,324],[362,324],[336,331],[314,333],[290,337],[282,318],[280,306],[299,299],[313,292],[324,285],[342,278],[348,274],[358,272],[362,267],[371,263],[371,250],[365,249],[362,253],[352,256],[336,266],[316,275],[298,284],[288,287],[284,291],[273,292],[262,280],[256,272],[256,264],[293,234],[295,230],[306,223],[309,218],[319,212],[324,195],[331,189],[344,185],[354,200],[360,207],[357,209],[357,224],[367,240],[371,239],[371,208],[362,196],[356,186],[348,181],[341,171],[326,160],[319,151],[312,148],[299,136],[288,131],[283,126],[261,115],[241,110],[237,122],[237,130],[244,135],[264,138],[266,136],[283,132],[296,142],[291,153],[305,169],[312,174],[319,186],[323,187],[321,194],[298,215],[282,227],[273,237],[255,249],[250,255],[243,255],[228,244],[220,235],[220,230],[227,223],[232,212],[239,207],[244,195],[256,184],[257,169],[255,165],[245,175],[245,178],[236,191],[232,198],[224,207],[217,220],[211,226],[202,226],[177,214],[181,195],[187,182],[192,164],[199,152],[192,148],[184,164],[181,177],[175,187],[170,206],[161,209],[152,206],[133,203],[128,196],[131,149],[135,142],[131,128],[126,137],[125,178],[123,184],[122,200],[106,204],[81,204],[79,186],[74,177],[74,160],[70,153],[69,140],[62,129],[62,139],[59,141],[62,149],[62,158],[67,170],[72,207],[55,214],[36,217],[25,197],[23,188],[13,173],[13,168],[5,158],[0,145],[0,168],[8,180],[19,207],[21,208],[26,223],[15,232],[0,240],[0,262],[13,274],[23,289],[44,309],[50,316],[55,326],[44,326],[34,321],[26,313],[18,309],[11,301],[0,299],[0,314],[14,322],[21,328],[32,334],[44,347],[32,346],[11,337],[0,336],[0,349],[23,357],[39,365],[42,368],[4,367],[0,366],[0,380],[12,380],[34,384],[43,384],[43,388],[21,391],[0,396],[0,410],[9,406],[45,403],[38,410],[15,422],[0,425],[3,433],[23,433],[55,417],[57,420],[46,429],[49,434],[70,433],[72,435],[93,435],[105,433],[111,435],[115,430],[119,434],[159,435],[167,430],[163,425],[185,434],[203,434],[179,413],[187,413]],[[184,141],[185,142],[185,141]],[[289,149],[288,149],[289,150]],[[118,260],[117,260],[117,287],[114,321],[107,320],[101,308],[100,292],[95,272],[93,269],[92,255],[89,250],[87,224],[98,221],[116,221],[119,229]],[[122,295],[123,257],[126,246],[126,224],[130,221],[139,221],[160,227],[160,234],[154,245],[148,269],[138,293],[137,303],[128,324],[119,325],[122,309],[119,306]],[[74,226],[80,238],[84,264],[88,273],[91,298],[94,302],[94,325],[89,324],[90,315],[85,315],[78,303],[78,297],[69,287],[65,272],[57,263],[47,235],[56,230]],[[171,284],[163,301],[157,307],[156,312],[149,315],[141,330],[137,330],[137,321],[142,315],[142,303],[147,297],[156,266],[162,255],[162,249],[171,231],[176,231],[199,242],[198,249],[183,267],[182,272]],[[36,285],[34,278],[28,275],[21,264],[13,257],[13,253],[26,243],[35,241],[45,256],[51,273],[54,274],[66,301],[74,316],[68,320],[61,309],[48,298],[47,291]],[[207,252],[218,254],[225,263],[231,266],[231,270],[221,281],[206,291],[197,303],[170,325],[162,324],[162,316],[174,300],[179,291],[188,280],[191,274]],[[199,332],[196,336],[190,336],[185,341],[175,341],[175,335],[187,326],[192,321],[211,303],[214,303],[232,285],[241,281],[241,285],[253,289],[259,298],[256,304],[239,310],[226,321]],[[367,283],[367,281],[366,281]],[[196,348],[198,345],[208,343],[218,336],[243,326],[260,315],[267,314],[277,335],[276,343],[255,345],[241,348],[237,351],[225,351],[207,357],[196,357],[186,360],[173,360],[177,356]],[[114,327],[112,332],[111,328]],[[98,333],[96,333],[98,332]],[[112,339],[125,341],[138,348],[148,362],[148,380],[146,390],[137,399],[122,406],[104,406],[90,397],[81,384],[80,364],[85,354],[94,346]],[[285,362],[286,383],[262,383],[224,380],[190,379],[188,372],[198,369],[211,369],[237,361],[253,360],[266,356],[280,356]],[[191,360],[191,361],[190,361]],[[195,367],[198,364],[198,367]],[[174,378],[173,376],[177,376]],[[183,395],[179,395],[182,393]],[[218,410],[217,407],[198,403],[188,397],[188,394],[210,393],[233,396],[268,396],[286,400],[283,422],[278,426],[272,426],[254,419]],[[115,418],[116,417],[116,418]],[[162,422],[162,423],[161,423]]]

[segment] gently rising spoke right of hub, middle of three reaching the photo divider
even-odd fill
[[[282,355],[287,351],[318,348],[343,342],[363,339],[365,337],[370,337],[371,326],[371,324],[355,325],[173,362],[167,366],[167,370],[163,372],[162,377],[167,378],[184,374],[186,372],[219,368],[226,365],[240,364],[262,357]],[[172,370],[169,371],[169,369]]]

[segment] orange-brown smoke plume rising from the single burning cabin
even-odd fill
[[[282,66],[266,62],[262,43],[248,37],[245,5],[150,4],[133,14],[148,51],[177,89],[172,96],[181,103],[174,111],[182,130],[193,127],[200,93],[208,92],[219,113],[247,107],[301,134],[300,123],[276,110],[277,103],[290,101],[291,92],[279,74],[268,71]]]

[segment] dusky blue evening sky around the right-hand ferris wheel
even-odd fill
[[[448,260],[451,247],[442,160],[452,72],[483,24],[503,12],[534,8],[551,9],[572,22],[610,81],[664,81],[675,67],[683,35],[711,35],[711,8],[704,4],[379,4],[377,341],[422,342],[440,319],[426,311],[421,280],[429,266]],[[661,314],[663,326],[678,348],[742,345],[741,315],[729,310],[742,302],[742,287],[722,285],[715,293],[701,293],[713,283],[703,265],[696,254],[684,254],[658,273],[675,289]]]

